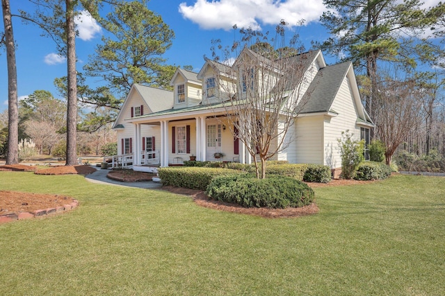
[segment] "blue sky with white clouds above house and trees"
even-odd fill
[[[432,6],[437,0],[426,0],[424,6]],[[29,1],[10,1],[11,10],[31,12]],[[149,10],[161,15],[165,24],[175,32],[171,48],[163,55],[168,64],[191,65],[200,71],[204,55],[211,57],[211,40],[220,39],[223,45],[232,44],[234,31],[252,27],[262,32],[275,32],[275,26],[284,19],[291,31],[300,35],[300,41],[310,48],[311,41],[322,42],[328,37],[318,19],[326,10],[323,0],[151,0]],[[304,26],[298,26],[305,19]],[[81,13],[76,21],[79,36],[76,38],[77,71],[83,71],[88,56],[95,53],[95,46],[106,34],[88,14]],[[2,30],[3,31],[3,30]],[[42,30],[33,24],[24,24],[13,17],[13,31],[16,40],[17,87],[19,99],[44,89],[56,98],[61,98],[54,78],[67,75],[66,59],[56,50],[56,44],[48,37],[42,37]],[[327,58],[328,64],[336,62]],[[88,78],[90,86],[103,85],[100,78]],[[0,112],[8,108],[8,73],[6,52],[0,49]]]

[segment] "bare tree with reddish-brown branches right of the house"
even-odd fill
[[[391,164],[392,155],[414,132],[422,121],[422,92],[416,80],[400,79],[385,73],[378,82],[375,99],[375,122],[378,138],[385,143],[387,164]],[[395,76],[395,77],[394,77]]]

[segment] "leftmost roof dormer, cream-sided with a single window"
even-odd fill
[[[170,80],[173,87],[173,109],[192,107],[201,103],[202,83],[197,79],[197,73],[177,68]]]

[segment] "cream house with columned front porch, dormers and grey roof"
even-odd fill
[[[245,55],[268,62],[249,49],[243,50],[237,60]],[[341,168],[337,141],[341,132],[350,130],[357,139],[369,143],[369,130],[373,128],[360,99],[353,65],[343,62],[328,66],[321,51],[287,59],[304,61],[305,85],[288,84],[289,88],[300,87],[298,99],[307,100],[288,132],[286,148],[275,159]],[[232,67],[235,65],[236,62]],[[178,68],[170,82],[173,92],[133,85],[113,125],[118,134],[120,162],[141,171],[147,165],[182,164],[191,155],[201,161],[251,163],[253,159],[245,145],[229,131],[233,128],[225,119],[227,110],[218,105],[222,94],[218,85],[236,81],[239,85],[242,80],[233,74],[216,75],[229,73],[230,69],[211,60],[199,73]],[[223,83],[216,81],[224,79]],[[224,157],[216,158],[218,152],[223,152]]]

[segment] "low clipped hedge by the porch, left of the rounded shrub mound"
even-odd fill
[[[228,168],[168,167],[159,168],[163,185],[206,190],[213,177],[232,175]]]

